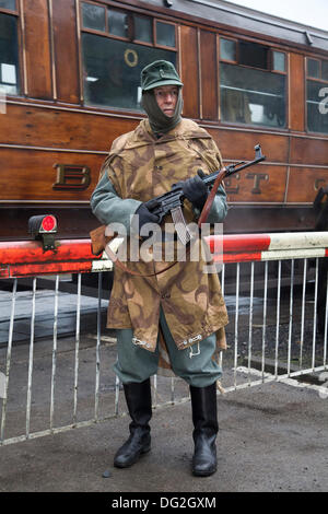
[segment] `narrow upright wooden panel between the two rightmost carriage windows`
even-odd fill
[[[305,78],[304,56],[290,54],[290,116],[292,130],[304,131],[305,128]]]

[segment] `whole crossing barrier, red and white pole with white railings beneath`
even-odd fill
[[[213,241],[211,237],[208,241],[211,247]],[[77,273],[74,291],[63,294],[68,283],[62,282],[65,276],[56,272],[56,266],[54,268],[55,262],[59,270],[70,271],[68,256],[60,257],[60,252],[56,256],[48,253],[47,259],[44,253],[38,254],[38,243],[26,245],[33,254],[31,259],[26,247],[13,245],[13,254],[9,256],[8,245],[1,253],[0,244],[1,271],[12,280],[8,315],[1,319],[2,325],[8,326],[8,340],[0,342],[0,445],[126,413],[121,387],[112,371],[116,359],[115,338],[103,328],[108,300],[103,297],[105,276],[102,269],[110,269],[110,262],[87,254],[83,242],[83,252],[77,252],[72,269],[77,270],[77,262],[82,262],[83,272],[98,271],[97,297],[87,296],[87,302],[83,302],[83,273]],[[66,245],[69,248],[69,244]],[[71,242],[71,245],[79,243]],[[326,304],[328,301],[327,277],[319,270],[319,259],[326,257],[327,246],[327,233],[223,237],[221,282],[231,323],[226,327],[229,348],[219,355],[223,366],[222,393],[272,381],[290,384],[291,378],[328,370],[327,309],[320,319],[324,330],[317,332],[318,295],[323,300],[324,294]],[[71,248],[69,255],[70,258],[74,255]],[[213,258],[218,261],[222,255],[213,254]],[[44,282],[43,289],[37,288],[47,277],[40,274],[40,267],[35,268],[40,259],[45,272],[55,272],[48,277],[47,290]],[[20,284],[27,276],[31,289],[23,293],[22,300]],[[0,291],[0,301],[1,294]],[[68,311],[68,299],[74,300],[73,309],[71,302],[69,304],[72,335],[62,338],[60,327]],[[85,305],[89,306],[91,300],[90,313]],[[17,316],[22,301],[30,305],[25,317]],[[46,318],[51,325],[50,337],[39,334]],[[28,337],[20,331],[22,319]],[[154,408],[189,399],[188,388],[179,378],[159,375],[153,377],[152,387]],[[323,390],[319,384],[312,387]]]

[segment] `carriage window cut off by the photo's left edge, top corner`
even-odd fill
[[[17,20],[4,13],[0,13],[0,89],[19,93]]]

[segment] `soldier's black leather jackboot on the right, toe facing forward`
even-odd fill
[[[216,383],[207,387],[190,386],[195,442],[192,474],[208,477],[216,471]]]

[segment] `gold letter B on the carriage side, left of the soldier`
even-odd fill
[[[57,172],[55,190],[83,191],[91,183],[91,170],[81,164],[54,164]]]

